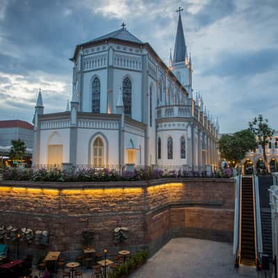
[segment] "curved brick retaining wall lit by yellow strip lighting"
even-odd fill
[[[94,232],[92,245],[110,253],[148,246],[151,253],[172,237],[231,241],[234,180],[162,179],[117,183],[31,183],[1,181],[0,223],[47,229],[47,250],[80,254],[81,232]],[[113,243],[113,229],[128,227],[124,246]],[[45,253],[43,247],[22,246]],[[12,247],[13,250],[13,247]]]

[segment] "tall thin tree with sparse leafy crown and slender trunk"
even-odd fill
[[[274,134],[274,130],[270,129],[268,119],[263,119],[263,115],[254,117],[254,120],[249,123],[250,130],[256,136],[256,142],[263,148],[263,162],[265,163],[266,171],[268,172],[268,161],[266,158],[266,147],[270,138]]]

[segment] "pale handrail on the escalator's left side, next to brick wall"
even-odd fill
[[[240,249],[240,174],[235,177],[236,188],[235,188],[235,208],[234,208],[234,249],[233,254],[237,258],[238,250]]]

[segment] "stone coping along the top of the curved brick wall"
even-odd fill
[[[152,179],[149,181],[72,181],[72,182],[49,182],[49,181],[0,181],[0,187],[20,188],[45,188],[45,189],[85,189],[85,188],[147,188],[160,186],[165,183],[186,183],[190,181],[210,183],[234,183],[234,178],[167,178]]]

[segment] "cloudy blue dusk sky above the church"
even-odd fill
[[[0,0],[0,120],[31,122],[39,88],[44,113],[72,97],[76,44],[126,28],[168,64],[178,13],[193,60],[193,89],[220,132],[262,113],[278,129],[277,0]]]

